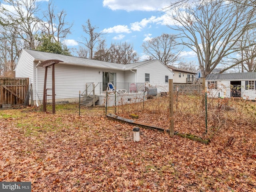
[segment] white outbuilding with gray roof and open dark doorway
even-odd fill
[[[256,100],[256,72],[208,74],[209,97],[238,97]]]

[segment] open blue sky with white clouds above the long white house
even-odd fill
[[[54,0],[56,11],[66,11],[66,21],[74,23],[72,34],[67,36],[68,48],[77,48],[81,36],[86,36],[82,25],[90,19],[98,32],[106,34],[107,45],[111,42],[129,42],[134,46],[141,60],[145,58],[141,45],[144,41],[160,36],[162,33],[174,33],[168,25],[172,21],[160,10],[170,4],[170,0]],[[40,2],[42,9],[47,2]],[[184,61],[191,60],[191,52],[182,52]],[[192,58],[191,58],[192,57]]]

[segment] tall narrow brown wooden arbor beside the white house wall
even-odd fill
[[[46,82],[47,82],[47,70],[48,67],[52,66],[52,114],[55,114],[55,72],[54,72],[54,65],[63,62],[60,60],[46,60],[41,62],[43,67],[45,67],[44,73],[44,93],[43,93],[43,112],[46,112]]]

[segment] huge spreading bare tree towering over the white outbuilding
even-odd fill
[[[196,53],[202,77],[206,77],[228,56],[248,48],[235,45],[244,33],[255,28],[256,7],[223,0],[196,0],[182,9],[172,8],[170,17],[176,22],[170,28],[180,32],[182,44]]]

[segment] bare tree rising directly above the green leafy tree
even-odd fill
[[[55,14],[55,6],[52,3],[52,0],[48,2],[47,12],[44,12],[44,18],[46,19],[46,23],[44,23],[45,33],[48,36],[52,36],[56,42],[60,42],[60,40],[66,38],[68,34],[71,34],[72,24],[69,24],[65,21],[66,12],[64,10]]]

